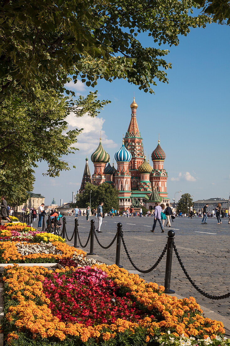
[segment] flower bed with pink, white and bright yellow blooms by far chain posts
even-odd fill
[[[51,234],[40,232],[33,227],[27,226],[26,224],[8,224],[6,226],[0,226],[0,242],[29,242],[35,243],[49,242],[65,242],[65,239]]]

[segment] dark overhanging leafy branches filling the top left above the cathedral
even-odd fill
[[[20,89],[36,98],[41,90],[64,91],[73,75],[86,85],[127,79],[145,92],[166,82],[171,64],[162,43],[178,45],[190,27],[205,27],[193,16],[193,0],[2,0],[0,5],[0,85],[2,99]],[[152,37],[151,47],[138,40]],[[67,91],[68,93],[69,91]]]

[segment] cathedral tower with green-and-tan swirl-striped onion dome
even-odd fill
[[[106,163],[109,161],[109,154],[104,150],[101,138],[97,149],[91,155],[91,161],[94,164],[93,184],[100,185],[105,182],[104,169]]]

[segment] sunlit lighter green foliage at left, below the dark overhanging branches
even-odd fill
[[[68,170],[63,155],[76,150],[73,146],[82,129],[68,130],[66,121],[70,111],[76,116],[88,112],[95,116],[107,101],[96,100],[96,94],[80,97],[75,103],[58,92],[35,90],[34,103],[13,95],[2,105],[0,119],[0,169],[10,170],[13,166],[36,167],[38,161],[48,163],[47,174],[57,176]]]

